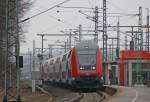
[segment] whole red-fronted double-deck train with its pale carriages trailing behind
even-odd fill
[[[83,41],[71,51],[46,60],[42,79],[76,88],[97,88],[102,85],[102,53],[93,41]]]

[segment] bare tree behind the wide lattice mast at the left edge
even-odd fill
[[[9,2],[15,2],[12,0],[8,0]],[[32,2],[31,0],[18,0],[19,4],[18,4],[18,17],[19,17],[19,21],[25,16],[26,12],[29,11]],[[11,16],[14,19],[11,19],[9,21],[10,24],[16,24],[16,13],[15,9],[11,6],[11,5],[6,5],[6,0],[0,0],[0,87],[3,87],[4,85],[4,62],[5,62],[5,43],[6,43],[6,6],[9,8],[9,10],[12,10],[11,13],[9,14],[9,16]],[[20,34],[20,41],[25,41],[25,35],[24,35],[24,24],[19,24],[19,34]],[[11,32],[16,32],[16,28],[14,27]],[[14,40],[13,38],[9,39],[9,40]],[[12,49],[15,47],[15,45],[12,46]],[[13,52],[13,50],[12,50]],[[14,70],[16,70],[14,68]],[[14,71],[15,72],[15,71]],[[15,73],[14,73],[15,74]]]

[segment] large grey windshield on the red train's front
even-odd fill
[[[77,50],[80,66],[96,66],[96,49]]]

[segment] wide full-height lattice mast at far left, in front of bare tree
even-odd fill
[[[5,96],[3,102],[20,101],[18,29],[18,0],[6,0]]]

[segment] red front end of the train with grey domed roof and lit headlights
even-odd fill
[[[77,88],[97,88],[102,85],[102,54],[96,43],[84,41],[73,49],[72,77]]]

